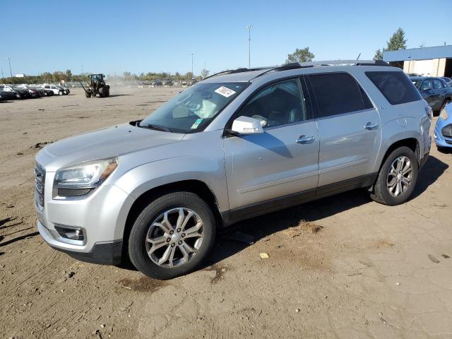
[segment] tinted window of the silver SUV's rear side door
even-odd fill
[[[316,97],[317,117],[329,117],[364,109],[361,90],[352,76],[345,73],[331,73],[307,76],[307,78]],[[369,104],[369,98],[367,98],[367,105]]]

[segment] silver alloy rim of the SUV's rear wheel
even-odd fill
[[[412,182],[412,164],[404,155],[397,157],[389,167],[386,184],[391,196],[404,194]]]

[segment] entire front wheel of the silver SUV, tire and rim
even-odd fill
[[[191,192],[155,199],[136,218],[129,236],[133,265],[151,278],[171,279],[194,270],[215,242],[215,217]]]

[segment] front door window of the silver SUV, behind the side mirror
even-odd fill
[[[299,79],[290,79],[260,90],[240,109],[237,117],[261,121],[263,128],[306,120],[306,107]]]

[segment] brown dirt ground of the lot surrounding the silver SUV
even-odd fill
[[[33,207],[40,143],[141,119],[178,91],[0,102],[0,337],[452,338],[452,154],[434,146],[408,203],[352,191],[254,218],[182,278],[47,246]]]

